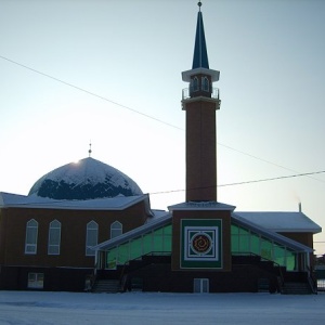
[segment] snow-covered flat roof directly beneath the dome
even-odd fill
[[[150,214],[147,194],[95,199],[52,199],[37,195],[18,195],[0,192],[0,208],[41,208],[41,209],[75,209],[75,210],[123,210],[140,202],[144,202]]]

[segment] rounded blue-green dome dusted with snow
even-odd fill
[[[50,171],[32,185],[28,195],[32,194],[54,199],[91,199],[143,193],[118,169],[89,157]]]

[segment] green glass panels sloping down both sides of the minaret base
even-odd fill
[[[115,269],[130,260],[153,252],[171,253],[171,224],[151,230],[106,251],[106,268]],[[233,255],[257,255],[266,260],[286,266],[288,271],[297,269],[298,252],[260,234],[235,223],[231,226],[231,245]]]

